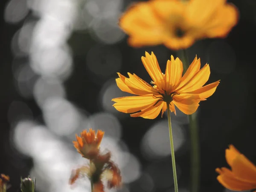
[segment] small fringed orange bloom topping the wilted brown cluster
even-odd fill
[[[104,136],[104,132],[101,130],[95,131],[90,129],[89,132],[84,130],[81,132],[81,137],[76,135],[76,140],[73,141],[75,148],[77,151],[87,159],[95,158],[99,153],[99,145]]]

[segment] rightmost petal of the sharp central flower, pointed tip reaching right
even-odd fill
[[[212,94],[215,92],[219,83],[220,83],[220,81],[215,81],[214,83],[207,84],[204,87],[201,87],[197,90],[187,92],[187,93],[196,94],[200,99],[206,99],[209,96],[212,96]]]

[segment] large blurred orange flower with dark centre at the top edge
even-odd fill
[[[201,38],[225,37],[238,22],[239,12],[226,0],[149,0],[134,3],[119,26],[134,47],[164,44],[186,49]]]

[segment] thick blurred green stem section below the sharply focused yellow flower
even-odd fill
[[[199,192],[200,182],[200,150],[199,133],[196,114],[189,115],[191,137],[191,192]]]

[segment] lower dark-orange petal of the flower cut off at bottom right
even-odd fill
[[[256,182],[251,183],[246,180],[241,180],[239,177],[236,177],[233,172],[225,167],[216,169],[216,172],[220,174],[217,177],[217,180],[227,189],[245,191],[256,188]]]

